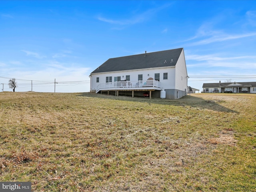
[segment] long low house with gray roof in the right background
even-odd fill
[[[204,83],[204,93],[256,93],[256,82]]]

